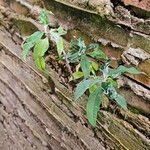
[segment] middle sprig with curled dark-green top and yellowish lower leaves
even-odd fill
[[[91,52],[91,50],[93,51]],[[82,38],[70,42],[70,52],[67,54],[67,59],[70,63],[78,63],[76,72],[72,74],[70,80],[83,76],[86,78],[90,73],[95,75],[95,72],[98,70],[98,63],[93,59],[89,59],[89,56],[97,60],[108,59],[104,52],[100,50],[98,44],[86,46]],[[81,71],[79,71],[80,68]]]

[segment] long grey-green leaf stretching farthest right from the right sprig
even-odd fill
[[[140,74],[141,72],[134,67],[127,68],[124,66],[119,66],[117,69],[110,70],[108,75],[112,78],[117,78],[123,73]]]

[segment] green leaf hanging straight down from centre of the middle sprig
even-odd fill
[[[83,71],[84,77],[87,78],[90,75],[91,63],[88,61],[86,56],[81,57],[80,65],[81,65],[81,69]]]

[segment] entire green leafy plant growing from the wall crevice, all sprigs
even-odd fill
[[[127,103],[123,96],[117,92],[116,79],[124,74],[139,74],[134,68],[119,66],[111,69],[110,59],[101,50],[98,44],[86,45],[82,38],[70,42],[70,51],[64,51],[64,41],[62,35],[66,31],[62,27],[49,29],[48,12],[42,10],[39,15],[39,22],[43,24],[44,31],[37,31],[26,38],[22,44],[22,57],[25,60],[29,51],[33,49],[33,60],[37,68],[46,72],[45,53],[49,49],[50,41],[56,45],[59,58],[63,58],[71,73],[71,80],[81,80],[75,89],[75,100],[78,100],[86,91],[89,93],[86,106],[86,114],[89,123],[96,126],[97,113],[102,102],[103,95],[110,101],[116,102],[121,108],[127,109]],[[103,65],[100,65],[100,62]],[[72,73],[70,64],[76,65],[76,71]]]

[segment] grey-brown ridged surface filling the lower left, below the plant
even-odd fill
[[[58,108],[42,76],[18,58],[20,48],[0,32],[1,149],[104,149],[92,131]]]

